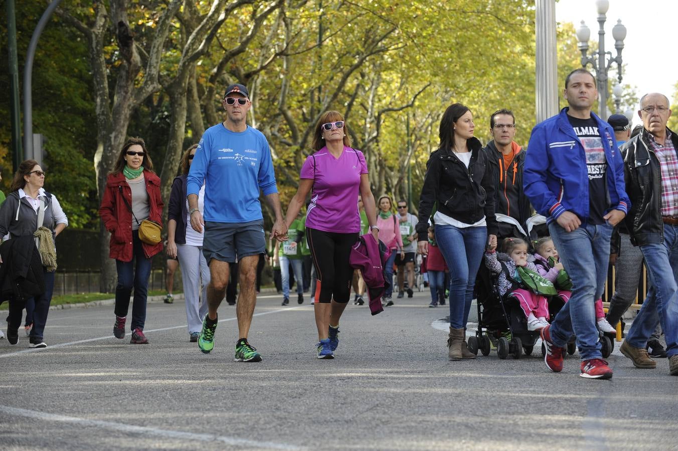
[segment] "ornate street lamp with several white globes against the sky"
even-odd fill
[[[617,63],[617,79],[619,83],[622,83],[622,49],[624,49],[624,38],[626,37],[626,27],[622,25],[621,20],[617,20],[617,24],[612,27],[612,37],[614,37],[614,48],[617,49],[617,56],[612,58],[611,51],[605,51],[605,20],[607,17],[607,9],[610,8],[610,0],[597,0],[595,2],[596,8],[598,10],[598,55],[589,56],[587,53],[589,51],[589,37],[591,37],[591,29],[584,24],[582,20],[581,26],[577,29],[577,40],[579,41],[578,47],[582,52],[582,66],[585,68],[586,65],[591,64],[595,69],[596,79],[598,80],[598,93],[599,93],[599,104],[598,104],[598,115],[601,119],[605,120],[607,118],[607,72],[610,70],[610,67],[613,63]],[[610,58],[605,62],[605,56],[609,55]],[[619,108],[617,108],[619,109]]]

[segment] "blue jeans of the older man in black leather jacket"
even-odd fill
[[[650,291],[633,320],[626,341],[645,347],[657,323],[666,338],[666,356],[678,354],[678,226],[664,224],[664,242],[640,246],[650,275]]]

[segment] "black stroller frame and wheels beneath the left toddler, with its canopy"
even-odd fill
[[[527,240],[527,234],[513,217],[498,214],[497,221],[513,225],[514,236]],[[502,299],[497,288],[497,277],[481,263],[475,284],[478,308],[478,328],[474,337],[468,338],[468,349],[477,355],[481,351],[488,356],[496,343],[497,355],[506,359],[509,355],[519,359],[530,356],[539,338],[538,331],[527,330],[527,320],[518,302],[509,297]]]

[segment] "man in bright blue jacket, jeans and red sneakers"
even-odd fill
[[[525,194],[546,216],[560,260],[572,278],[570,301],[542,329],[546,366],[563,369],[572,332],[582,359],[581,377],[610,379],[596,328],[596,299],[603,295],[612,228],[629,208],[624,168],[614,130],[591,112],[598,98],[595,78],[583,68],[565,79],[569,108],[536,125],[525,156]]]

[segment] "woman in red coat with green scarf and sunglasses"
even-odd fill
[[[161,242],[146,244],[139,239],[139,224],[144,219],[161,224],[162,211],[160,178],[153,171],[146,144],[141,138],[130,138],[120,151],[113,172],[108,174],[99,208],[104,226],[111,232],[110,257],[115,259],[118,272],[113,335],[119,339],[125,338],[129,295],[134,288],[132,340],[129,343],[148,343],[144,322],[151,257],[163,249]]]

